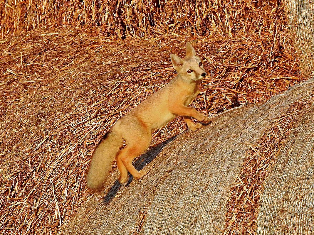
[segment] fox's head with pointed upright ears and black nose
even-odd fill
[[[187,55],[184,60],[174,54],[170,57],[173,67],[181,77],[190,81],[201,81],[206,77],[203,62],[195,55],[195,50],[189,42],[187,42]]]

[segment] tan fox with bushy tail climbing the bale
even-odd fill
[[[128,172],[136,180],[146,175],[145,170],[138,171],[134,168],[133,159],[149,148],[155,129],[165,126],[177,116],[183,116],[187,127],[192,131],[203,126],[201,123],[195,124],[192,117],[205,124],[209,122],[207,116],[189,107],[200,93],[199,83],[207,75],[203,61],[196,56],[189,42],[186,44],[184,59],[174,54],[170,58],[177,76],[117,120],[100,139],[86,176],[89,189],[95,191],[103,188],[114,159],[120,172],[120,184],[127,181]],[[126,147],[120,149],[123,140]]]

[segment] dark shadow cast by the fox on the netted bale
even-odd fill
[[[144,168],[148,163],[152,162],[156,156],[163,150],[163,148],[166,146],[166,144],[172,142],[176,136],[171,137],[169,140],[162,142],[158,145],[156,145],[154,148],[150,149],[149,151],[142,154],[134,163],[134,167],[139,171]],[[131,174],[129,175],[129,180],[126,183],[126,187],[130,185],[130,183],[133,180],[133,176]],[[109,203],[116,195],[116,193],[121,188],[122,184],[119,183],[118,180],[112,185],[110,190],[108,191],[107,195],[104,197],[104,203]]]

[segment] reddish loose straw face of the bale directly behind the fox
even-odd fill
[[[210,71],[194,107],[214,115],[262,102],[300,81],[288,48],[276,52],[261,38],[192,42]],[[84,174],[98,139],[175,76],[169,55],[183,56],[185,40],[191,39],[121,42],[51,29],[3,42],[3,230],[49,234],[92,197]],[[176,119],[153,134],[153,146],[185,129]]]

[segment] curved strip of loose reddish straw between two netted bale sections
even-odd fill
[[[223,234],[255,234],[257,216],[260,214],[264,216],[263,219],[272,220],[270,217],[266,218],[269,216],[268,211],[260,211],[260,200],[269,200],[268,194],[262,195],[263,186],[269,171],[274,169],[274,162],[285,147],[287,138],[293,135],[293,129],[300,125],[300,118],[308,111],[308,105],[312,104],[312,94],[298,100],[286,113],[268,124],[269,127],[255,144],[246,143],[249,151],[246,152],[246,158],[234,184],[229,188],[231,192],[226,203],[227,213]],[[268,187],[274,190],[273,184],[269,184]],[[275,190],[273,194],[276,194]],[[263,219],[260,221],[263,222]],[[310,218],[306,217],[306,219]],[[263,230],[264,226],[265,224],[258,224],[259,231]],[[267,226],[268,229],[273,229],[273,224]]]

